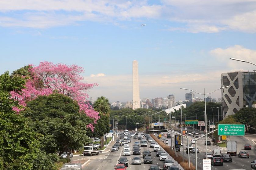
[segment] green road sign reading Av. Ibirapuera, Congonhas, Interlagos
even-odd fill
[[[218,125],[218,135],[244,136],[244,125]]]

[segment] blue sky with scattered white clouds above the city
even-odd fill
[[[255,0],[1,0],[0,74],[77,64],[84,82],[98,83],[90,97],[126,102],[137,60],[141,99],[185,100],[180,87],[209,93],[221,73],[256,70],[229,59],[256,63],[255,33]]]

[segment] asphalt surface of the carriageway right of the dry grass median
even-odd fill
[[[187,127],[187,130],[188,131],[192,131],[193,128],[192,127]],[[200,135],[199,135],[200,136]],[[212,166],[212,169],[216,169],[216,170],[226,170],[226,169],[251,169],[251,162],[253,160],[256,160],[256,154],[255,154],[255,147],[254,147],[254,141],[251,141],[252,135],[248,136],[248,137],[244,137],[244,136],[229,136],[229,140],[230,141],[236,141],[237,142],[237,156],[231,156],[232,157],[232,162],[224,162],[223,163],[223,166]],[[162,138],[163,139],[163,138]],[[191,142],[192,139],[195,139],[194,137],[190,137],[189,136],[189,144]],[[209,138],[208,138],[209,139]],[[171,142],[170,142],[171,139],[169,139],[169,146],[171,146]],[[174,140],[174,139],[172,139]],[[184,151],[186,151],[186,144],[187,144],[187,139],[184,137],[183,138],[183,141],[184,141]],[[209,141],[211,141],[209,139]],[[202,170],[203,169],[203,155],[205,153],[205,145],[204,145],[204,142],[205,142],[205,138],[201,138],[197,141],[197,147],[199,149],[199,153],[197,153],[197,168],[198,170]],[[174,144],[174,141],[172,141],[172,143]],[[211,143],[213,143],[211,141]],[[240,151],[244,151],[244,144],[251,144],[252,146],[252,150],[246,150],[249,155],[250,155],[250,158],[238,158],[238,152]],[[194,147],[195,147],[195,144],[193,144]],[[219,147],[219,146],[216,146],[216,145],[208,145],[207,146],[207,150],[208,150],[208,153],[212,151],[212,149],[214,148],[220,148],[221,150],[221,153],[222,154],[226,154],[226,147]],[[180,148],[180,155],[182,155],[182,147]],[[187,159],[187,154],[184,153],[184,157]],[[195,154],[194,153],[191,153],[190,154],[190,161],[195,165]]]

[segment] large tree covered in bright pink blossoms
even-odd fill
[[[32,66],[32,65],[31,65]],[[84,72],[82,67],[77,65],[53,64],[52,62],[43,61],[38,66],[30,67],[31,77],[27,80],[26,88],[22,93],[10,92],[12,98],[18,100],[21,107],[15,107],[13,110],[19,112],[26,106],[26,101],[33,100],[39,95],[50,95],[58,92],[76,100],[80,106],[80,112],[85,113],[94,123],[100,118],[99,113],[94,111],[88,104],[86,93],[87,90],[97,84],[82,82],[83,77],[80,75]],[[89,124],[93,130],[93,125]]]

